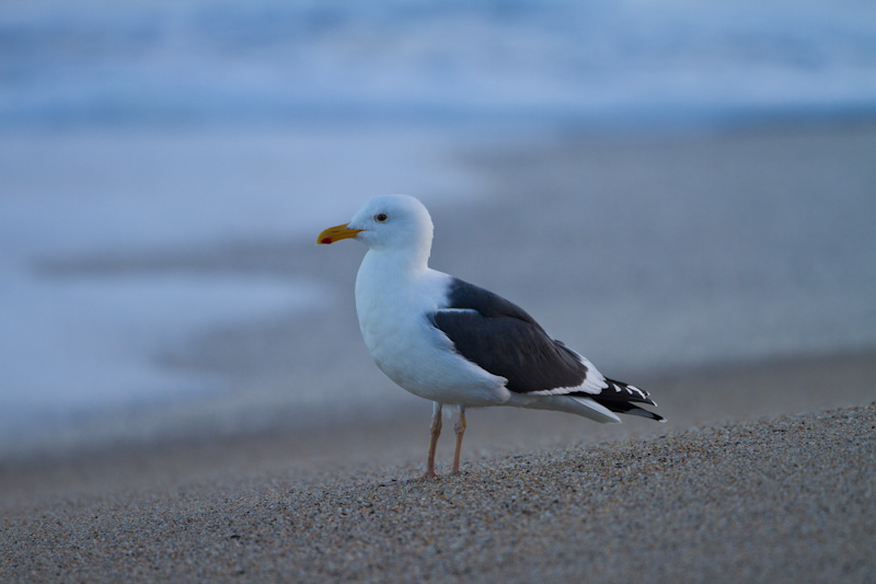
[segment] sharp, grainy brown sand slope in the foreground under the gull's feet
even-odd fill
[[[7,508],[0,580],[876,577],[876,403],[416,471]]]

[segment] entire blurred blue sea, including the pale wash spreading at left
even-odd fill
[[[0,440],[212,386],[161,355],[332,295],[47,262],[310,237],[372,193],[474,197],[449,158],[473,136],[874,112],[871,0],[7,0]]]

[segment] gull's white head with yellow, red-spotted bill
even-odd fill
[[[380,195],[365,204],[348,224],[325,229],[316,244],[357,239],[376,251],[431,248],[431,217],[426,207],[407,195]]]

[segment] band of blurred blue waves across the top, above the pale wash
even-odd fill
[[[876,106],[869,0],[7,1],[0,127],[702,124]]]

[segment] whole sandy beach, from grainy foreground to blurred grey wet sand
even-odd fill
[[[217,332],[174,357],[178,368],[232,379],[220,394],[95,416],[7,448],[0,581],[873,582],[872,344],[831,346],[829,328],[820,337],[803,324],[776,332],[744,313],[751,308],[745,295],[737,304],[721,296],[726,286],[765,288],[769,262],[744,274],[708,272],[714,301],[683,321],[670,316],[690,299],[669,293],[660,306],[623,314],[596,309],[585,318],[579,298],[593,280],[568,266],[578,265],[583,249],[597,255],[608,233],[596,228],[586,245],[576,243],[587,209],[581,192],[645,190],[655,202],[648,213],[678,190],[711,190],[718,198],[744,192],[752,202],[775,190],[831,187],[863,199],[876,186],[874,126],[662,140],[575,137],[468,159],[484,178],[485,197],[464,214],[433,209],[433,265],[511,297],[603,373],[650,390],[667,424],[471,411],[463,472],[412,481],[425,458],[429,404],[383,379],[361,345],[351,291],[359,247],[326,254],[301,234],[80,259],[47,268],[249,266],[319,277],[341,301],[330,311]],[[670,215],[662,220],[671,231],[683,221]],[[793,216],[793,207],[777,216]],[[611,241],[643,253],[659,227]],[[492,251],[497,241],[500,255]],[[661,257],[655,265],[693,285],[719,259],[696,251],[701,272]],[[830,264],[829,254],[804,252],[788,270],[808,274]],[[622,265],[608,270],[619,289],[629,280],[661,282],[624,274]],[[829,276],[822,288],[799,294],[841,310],[842,283]],[[540,279],[553,283],[550,290]],[[789,310],[794,300],[758,291],[765,314]],[[873,307],[857,306],[861,313],[843,318],[873,324]],[[711,329],[710,311],[738,311],[738,327]],[[631,354],[624,335],[644,348]],[[750,339],[750,354],[721,362],[704,353],[721,344],[703,340],[722,335]],[[782,335],[798,342],[782,345]],[[795,348],[771,350],[768,341]],[[684,343],[687,354],[661,353]],[[350,387],[380,408],[338,399],[326,409],[303,389],[348,396]],[[439,444],[439,473],[450,434]]]

